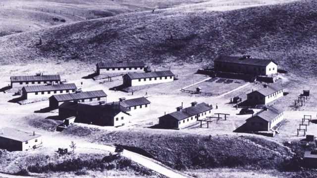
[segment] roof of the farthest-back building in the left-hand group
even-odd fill
[[[11,76],[11,82],[60,81],[59,75]]]

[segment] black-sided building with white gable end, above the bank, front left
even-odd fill
[[[98,126],[123,126],[130,122],[128,109],[120,104],[89,105],[66,101],[58,106],[59,119],[76,117],[75,122]]]

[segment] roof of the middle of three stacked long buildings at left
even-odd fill
[[[51,86],[27,86],[23,87],[26,92],[40,92],[40,91],[55,91],[55,90],[64,90],[64,89],[77,89],[75,84],[60,84],[60,85],[51,85]]]

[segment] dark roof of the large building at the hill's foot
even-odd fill
[[[243,57],[226,56],[226,55],[219,55],[216,59],[214,59],[214,61],[228,62],[228,63],[234,63],[234,64],[247,64],[247,65],[262,66],[262,67],[267,66],[271,62],[275,63],[274,61],[269,59],[256,59],[251,57],[243,58]]]

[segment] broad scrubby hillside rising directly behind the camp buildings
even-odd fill
[[[316,7],[307,0],[228,12],[122,14],[2,37],[0,61],[211,62],[220,53],[247,53],[316,76]]]

